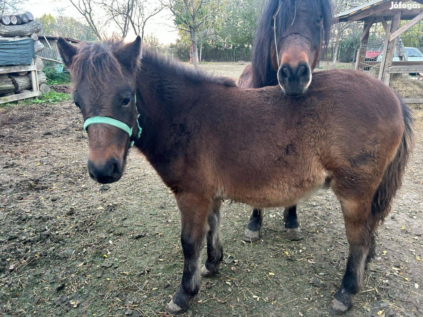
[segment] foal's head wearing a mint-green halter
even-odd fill
[[[71,72],[73,99],[84,117],[90,156],[88,172],[99,183],[122,176],[128,148],[139,137],[135,81],[141,38],[129,44],[58,40],[60,55]]]

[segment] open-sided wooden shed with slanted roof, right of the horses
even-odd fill
[[[336,17],[339,22],[363,23],[355,69],[378,77],[397,90],[405,102],[423,103],[423,56],[421,60],[408,60],[405,51],[414,47],[404,46],[401,39],[413,37],[414,42],[408,38],[406,42],[423,48],[423,0],[374,0]],[[412,32],[413,27],[416,31]],[[401,93],[403,89],[407,93]]]

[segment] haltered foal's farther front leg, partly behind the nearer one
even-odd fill
[[[212,276],[219,271],[220,262],[223,259],[223,248],[220,241],[220,205],[222,201],[217,199],[209,213],[207,222],[209,232],[207,233],[207,260],[201,270],[201,276]]]

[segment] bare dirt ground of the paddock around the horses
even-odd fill
[[[239,76],[245,65],[206,64]],[[404,186],[379,229],[377,258],[345,316],[423,314],[423,110]],[[110,185],[87,173],[87,135],[70,101],[0,108],[0,313],[166,316],[183,256],[173,195],[131,150]],[[304,238],[285,239],[281,208],[261,240],[241,239],[250,208],[222,205],[224,261],[184,316],[330,316],[348,243],[330,191],[299,206]]]

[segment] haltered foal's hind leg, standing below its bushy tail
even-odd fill
[[[371,215],[371,200],[341,199],[349,256],[341,287],[335,292],[329,306],[333,314],[343,314],[353,305],[353,296],[363,283],[365,266],[373,255],[376,223]]]

